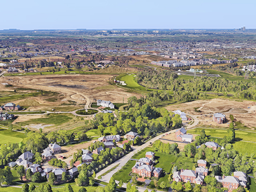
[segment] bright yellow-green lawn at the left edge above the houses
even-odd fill
[[[6,144],[8,142],[11,143],[20,143],[25,138],[25,134],[17,132],[17,131],[9,131],[7,129],[0,129],[0,145]]]

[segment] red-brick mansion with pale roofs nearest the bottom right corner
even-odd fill
[[[215,176],[218,182],[221,182],[223,187],[228,189],[228,192],[232,192],[237,189],[239,185],[246,187],[247,177],[244,172],[234,172],[234,176]]]

